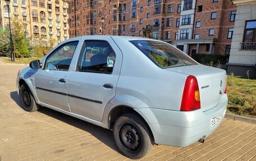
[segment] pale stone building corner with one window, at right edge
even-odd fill
[[[233,0],[237,5],[228,73],[256,77],[256,0]]]

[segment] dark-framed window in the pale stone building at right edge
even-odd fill
[[[246,21],[243,42],[256,42],[256,20]]]

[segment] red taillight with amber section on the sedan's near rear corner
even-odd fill
[[[200,94],[196,77],[190,75],[186,78],[180,111],[195,109],[200,109]]]

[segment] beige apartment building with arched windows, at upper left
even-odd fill
[[[3,28],[9,23],[8,8],[4,0],[0,5],[0,27]],[[66,0],[11,0],[10,18],[24,23],[24,32],[34,38],[34,43],[51,45],[68,39],[67,8]]]

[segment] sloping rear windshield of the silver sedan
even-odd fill
[[[130,42],[161,68],[198,65],[196,61],[170,44],[150,40],[130,40]]]

